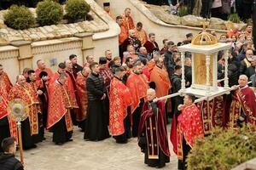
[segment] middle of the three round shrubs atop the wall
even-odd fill
[[[38,3],[37,15],[40,26],[56,25],[63,18],[63,8],[55,1],[45,0]]]

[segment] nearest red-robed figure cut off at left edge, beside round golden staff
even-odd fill
[[[8,96],[4,93],[2,87],[0,87],[0,144],[3,139],[13,137],[17,140],[17,127],[15,119],[9,116],[7,111]],[[0,152],[3,151],[0,145]]]

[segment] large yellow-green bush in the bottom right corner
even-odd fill
[[[256,157],[255,127],[237,131],[215,129],[212,135],[197,140],[189,153],[189,170],[228,170]]]

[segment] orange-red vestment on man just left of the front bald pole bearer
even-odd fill
[[[143,74],[137,75],[135,73],[131,73],[127,79],[126,86],[130,89],[131,92],[131,113],[133,113],[137,106],[140,104],[140,99],[147,99],[147,77],[145,77]]]

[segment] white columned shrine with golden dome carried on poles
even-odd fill
[[[218,95],[230,92],[228,82],[228,55],[231,48],[230,43],[218,42],[218,38],[212,34],[202,31],[196,35],[190,44],[178,47],[181,52],[183,67],[181,93],[195,94],[196,97],[214,98]],[[224,87],[218,87],[218,52],[224,50],[225,70]],[[192,54],[192,84],[185,88],[184,59],[185,53]]]

